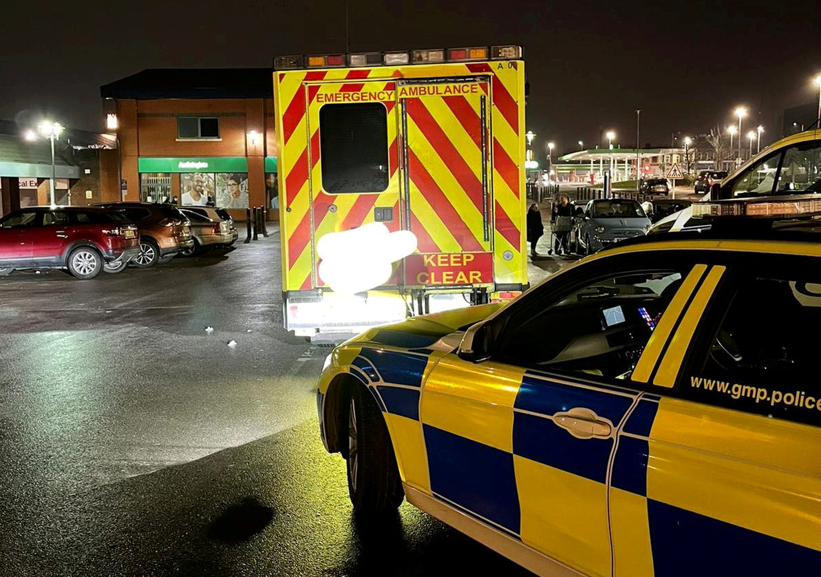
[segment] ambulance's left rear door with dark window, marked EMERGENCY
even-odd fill
[[[334,284],[319,274],[322,255],[318,245],[323,236],[359,230],[374,222],[384,224],[390,232],[401,228],[396,83],[391,79],[369,80],[369,72],[331,71],[322,80],[306,83],[314,288]],[[345,76],[328,79],[334,74]],[[369,264],[366,250],[362,254],[351,252],[355,251],[339,252],[346,262],[331,263],[338,265],[342,276],[364,270]],[[401,284],[400,265],[394,265],[391,279],[381,286]],[[325,271],[326,276],[331,274],[330,268]],[[361,286],[377,288],[368,286],[367,281]]]

